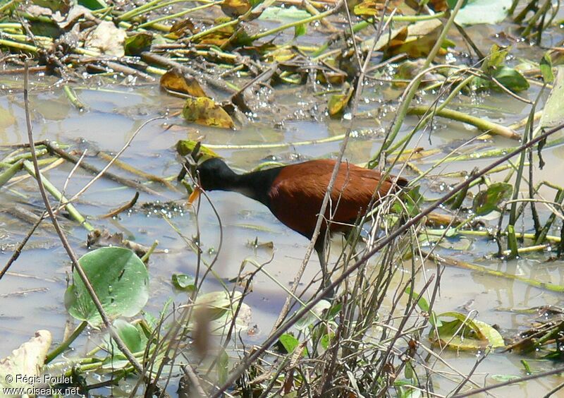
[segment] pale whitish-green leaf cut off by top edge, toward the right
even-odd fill
[[[448,0],[448,5],[456,3]],[[464,8],[456,14],[455,22],[460,25],[476,25],[487,23],[495,25],[507,17],[513,0],[469,0]],[[450,6],[452,8],[452,6]]]

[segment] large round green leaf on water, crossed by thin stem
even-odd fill
[[[127,248],[99,248],[78,260],[110,319],[137,315],[149,298],[149,273],[140,258]],[[102,323],[77,270],[65,291],[68,313],[92,327]]]

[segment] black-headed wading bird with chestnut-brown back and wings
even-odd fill
[[[311,240],[335,165],[333,159],[314,159],[237,174],[223,159],[212,157],[195,169],[197,184],[188,203],[194,203],[202,190],[241,193],[268,207],[282,224]],[[407,180],[403,177],[384,178],[379,171],[341,162],[331,190],[331,206],[314,244],[324,284],[329,283],[324,239],[330,215],[329,232],[346,231],[372,204],[405,186]]]

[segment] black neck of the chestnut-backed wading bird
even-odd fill
[[[230,181],[226,191],[241,193],[247,198],[258,200],[263,205],[269,206],[269,191],[280,168],[252,171],[246,174],[235,174]]]

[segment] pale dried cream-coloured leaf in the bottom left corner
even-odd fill
[[[49,346],[51,346],[51,332],[37,330],[35,337],[13,350],[11,356],[0,359],[0,386],[32,387],[34,383],[28,382],[32,381],[34,377],[39,378]],[[24,375],[25,379],[20,380],[16,378],[16,375]],[[8,396],[0,391],[0,397],[13,397],[13,395]]]

